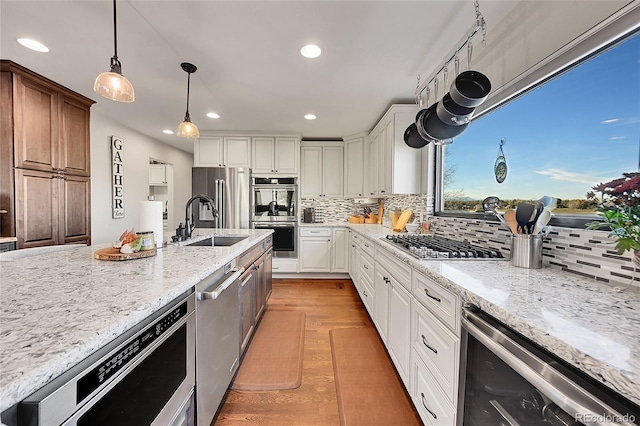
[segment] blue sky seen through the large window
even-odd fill
[[[507,178],[496,182],[500,140]],[[484,199],[585,198],[640,171],[640,35],[474,120],[447,147],[445,191]]]

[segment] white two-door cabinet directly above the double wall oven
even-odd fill
[[[251,143],[253,174],[298,174],[298,138],[254,137]]]

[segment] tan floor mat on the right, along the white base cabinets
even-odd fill
[[[371,327],[329,331],[343,426],[422,424]]]

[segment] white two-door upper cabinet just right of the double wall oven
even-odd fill
[[[342,198],[343,158],[342,142],[304,145],[300,150],[300,197]]]

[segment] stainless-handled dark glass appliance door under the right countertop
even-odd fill
[[[631,425],[638,407],[477,309],[462,316],[458,423]]]

